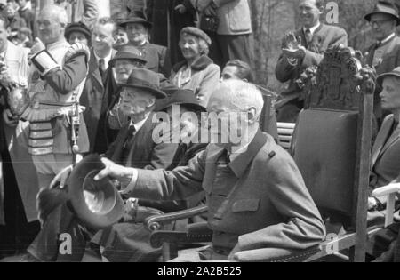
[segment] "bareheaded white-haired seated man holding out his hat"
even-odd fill
[[[214,121],[214,143],[187,166],[145,171],[103,159],[106,168],[95,180],[115,178],[124,194],[154,200],[184,199],[205,191],[212,246],[192,250],[180,260],[249,260],[248,253],[261,248],[276,255],[319,244],[324,222],[292,158],[260,132],[262,107],[254,85],[224,82],[207,108],[209,121]]]

